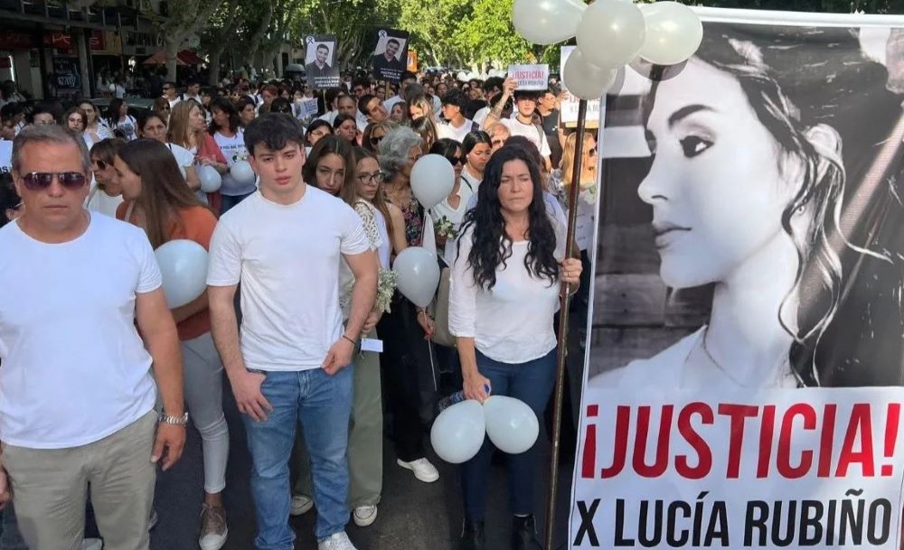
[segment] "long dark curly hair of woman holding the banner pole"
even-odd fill
[[[512,256],[512,238],[505,232],[499,186],[505,163],[513,161],[527,164],[533,182],[533,200],[527,209],[529,244],[524,267],[532,277],[548,279],[550,284],[555,284],[559,278],[559,264],[554,256],[556,234],[543,200],[540,167],[522,148],[504,146],[486,163],[484,182],[477,188],[477,205],[467,211],[461,226],[462,235],[473,231],[474,246],[467,256],[467,263],[474,273],[474,282],[487,291],[496,284],[496,269],[499,266],[506,268],[505,262]]]

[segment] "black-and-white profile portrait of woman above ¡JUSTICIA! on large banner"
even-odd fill
[[[603,164],[590,386],[900,385],[899,31],[706,23],[634,70],[607,130],[633,111],[648,151]]]

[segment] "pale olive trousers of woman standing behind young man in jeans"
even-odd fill
[[[376,338],[376,331],[363,335]],[[383,409],[380,391],[380,354],[355,350],[354,393],[352,421],[348,431],[348,505],[376,506],[380,503],[383,488]],[[297,481],[292,493],[308,498],[311,487],[311,461],[301,438],[301,427],[296,435],[296,447],[292,460],[297,471]]]

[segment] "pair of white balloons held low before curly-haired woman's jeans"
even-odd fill
[[[448,407],[430,429],[430,443],[437,456],[452,464],[475,457],[484,438],[502,452],[519,454],[537,441],[540,423],[531,407],[506,396],[490,396],[481,406],[468,399]]]

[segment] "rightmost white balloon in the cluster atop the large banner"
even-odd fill
[[[693,10],[677,2],[640,6],[646,20],[646,42],[640,56],[656,65],[691,59],[703,41],[703,23]]]

